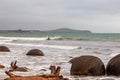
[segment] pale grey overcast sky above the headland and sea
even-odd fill
[[[120,0],[0,0],[0,30],[120,33]]]

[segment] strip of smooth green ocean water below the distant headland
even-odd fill
[[[120,41],[120,33],[92,33],[92,34],[77,34],[77,33],[0,33],[0,36],[5,37],[30,37],[30,38],[40,38],[40,37],[55,37],[59,36],[62,38],[72,38],[72,39],[81,39],[81,40],[111,40],[111,41]]]

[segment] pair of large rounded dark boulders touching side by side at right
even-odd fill
[[[113,57],[107,64],[106,69],[103,62],[95,56],[80,56],[71,59],[71,75],[101,76],[112,75],[120,76],[120,54]]]

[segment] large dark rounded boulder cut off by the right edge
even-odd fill
[[[106,67],[107,75],[120,76],[120,54],[113,57]]]

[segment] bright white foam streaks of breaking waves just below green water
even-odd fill
[[[7,45],[16,45],[16,46],[36,46],[36,47],[47,47],[47,48],[58,48],[58,49],[75,49],[78,48],[77,46],[64,46],[64,45],[46,45],[46,44],[32,44],[32,43],[12,43],[16,40],[24,40],[24,41],[41,41],[41,40],[47,40],[48,37],[42,37],[42,38],[21,38],[21,37],[0,37],[0,44],[7,44]],[[51,37],[51,39],[59,38],[57,36]]]

